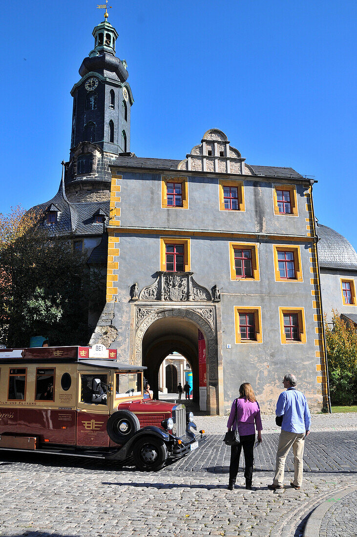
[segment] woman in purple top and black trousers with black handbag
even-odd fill
[[[232,403],[227,427],[228,431],[233,429],[239,431],[239,439],[241,440],[237,446],[231,446],[230,465],[229,465],[229,483],[228,489],[233,490],[236,483],[236,477],[239,468],[239,459],[243,447],[245,460],[245,488],[252,489],[253,477],[253,449],[256,440],[256,422],[258,431],[258,442],[261,442],[261,425],[260,408],[254,395],[253,388],[249,382],[244,382],[239,387],[239,397]]]

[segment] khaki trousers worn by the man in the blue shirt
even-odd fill
[[[290,447],[293,446],[294,453],[294,485],[301,487],[304,454],[305,433],[289,433],[281,431],[279,437],[278,452],[276,453],[276,466],[273,485],[282,485],[284,481],[284,467]]]

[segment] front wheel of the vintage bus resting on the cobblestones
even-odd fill
[[[167,459],[167,448],[158,438],[141,438],[134,444],[133,458],[139,470],[159,470]]]

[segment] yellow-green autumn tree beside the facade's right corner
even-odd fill
[[[357,332],[352,321],[345,321],[332,310],[332,326],[324,314],[331,402],[357,403]]]

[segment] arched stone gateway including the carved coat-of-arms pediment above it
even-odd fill
[[[218,351],[221,349],[218,345],[220,299],[216,288],[213,293],[214,296],[196,284],[192,273],[173,277],[170,273],[160,272],[154,284],[144,287],[139,296],[133,295],[135,343],[132,359],[135,364],[148,367],[147,379],[157,397],[162,361],[173,351],[183,354],[192,366],[195,400],[200,401],[201,408],[207,407],[207,412],[215,415],[223,413],[224,408],[222,353]],[[199,348],[204,349],[200,353],[201,364],[205,360],[204,377],[199,371]],[[206,394],[202,388],[206,388]]]

